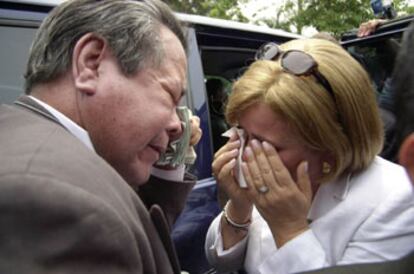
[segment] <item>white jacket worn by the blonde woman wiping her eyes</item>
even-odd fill
[[[207,258],[220,271],[286,274],[393,260],[414,250],[411,182],[401,166],[380,157],[360,174],[321,185],[308,217],[310,229],[278,249],[254,209],[248,236],[223,250],[220,215],[207,233]]]

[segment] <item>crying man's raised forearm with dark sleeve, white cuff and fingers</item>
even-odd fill
[[[192,116],[190,146],[195,146],[201,136],[200,118]],[[184,165],[175,169],[156,168],[148,183],[139,187],[138,194],[147,208],[158,204],[164,210],[171,227],[184,209],[186,198],[196,179],[194,175],[185,172]]]

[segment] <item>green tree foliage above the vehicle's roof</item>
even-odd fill
[[[250,0],[255,1],[255,0]],[[247,22],[240,5],[249,0],[166,0],[175,11],[208,17]],[[284,0],[275,8],[274,16],[258,18],[252,23],[271,28],[302,33],[305,27],[328,32],[339,37],[341,33],[356,29],[362,22],[374,18],[369,0]],[[399,15],[414,14],[414,7],[407,0],[394,0]],[[268,7],[264,9],[269,9]]]

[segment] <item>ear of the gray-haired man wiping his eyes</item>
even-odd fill
[[[99,64],[106,41],[92,33],[85,34],[76,43],[72,55],[72,75],[77,90],[86,95],[96,92]]]

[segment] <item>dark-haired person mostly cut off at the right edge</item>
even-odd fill
[[[392,76],[397,115],[399,163],[403,165],[414,185],[414,24],[404,34]],[[414,199],[414,195],[413,195]],[[306,273],[313,274],[411,274],[414,270],[413,252],[396,261],[344,265]]]

